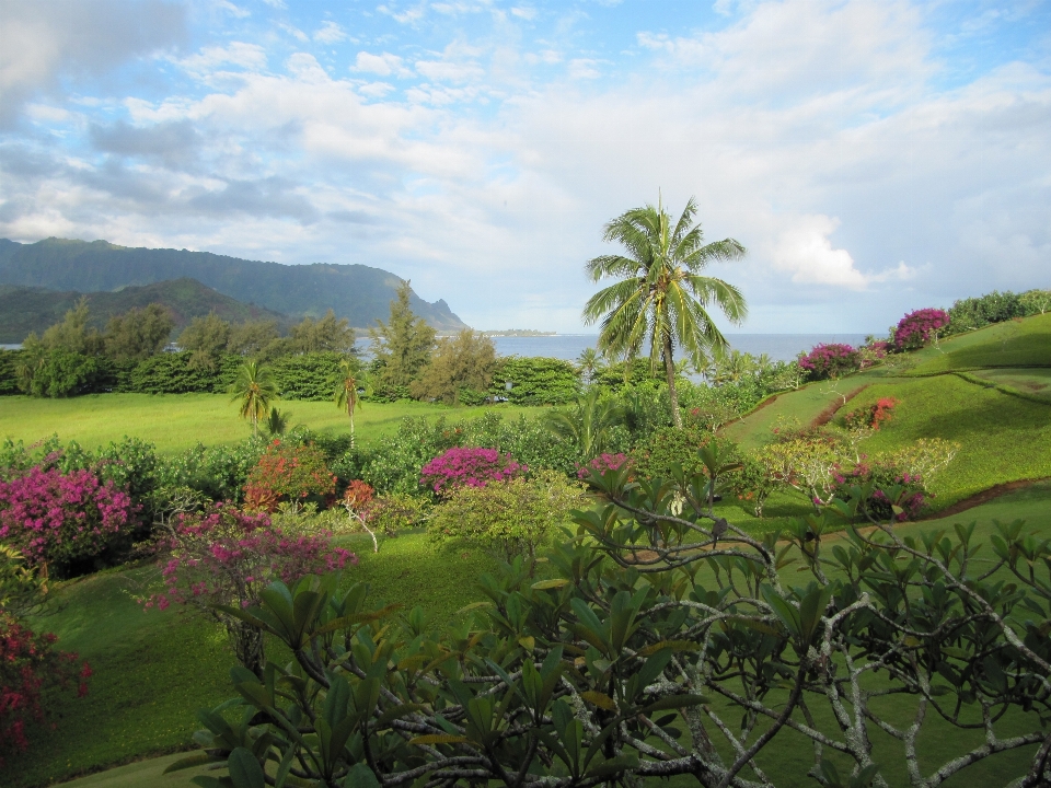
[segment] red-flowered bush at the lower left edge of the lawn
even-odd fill
[[[78,665],[76,653],[56,650],[56,640],[0,611],[0,766],[28,749],[26,726],[45,721],[53,693],[76,686],[78,696],[88,694],[91,667]]]

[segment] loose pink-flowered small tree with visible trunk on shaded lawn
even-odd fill
[[[164,610],[173,602],[200,607],[222,624],[242,665],[262,675],[263,634],[215,605],[247,607],[274,580],[292,583],[357,564],[357,556],[332,547],[326,534],[286,534],[265,512],[245,513],[215,503],[203,513],[181,514],[160,538],[164,590],[142,600]]]

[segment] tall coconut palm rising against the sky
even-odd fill
[[[597,292],[584,308],[585,323],[601,320],[599,350],[632,360],[648,341],[652,368],[663,363],[677,427],[682,427],[682,416],[674,346],[700,366],[706,348],[721,352],[727,347],[708,306],[718,305],[734,324],[748,314],[740,290],[700,274],[708,263],[741,258],[744,247],[734,239],[705,244],[701,225],[693,223],[696,212],[692,197],[674,224],[660,200],[656,207],[632,209],[609,222],[602,236],[621,243],[626,254],[602,255],[587,264],[593,281],[621,280]]]

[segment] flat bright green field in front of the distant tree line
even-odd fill
[[[350,431],[345,412],[331,402],[281,402],[278,407],[291,414],[291,425],[303,424],[312,430]],[[538,408],[496,405],[481,408],[452,408],[429,403],[362,403],[355,426],[362,441],[389,434],[405,416],[477,418],[496,409],[507,417],[534,413]],[[63,441],[76,440],[94,449],[124,436],[157,444],[161,453],[189,449],[198,441],[209,445],[234,443],[250,433],[238,418],[236,405],[224,394],[90,394],[69,399],[37,399],[25,396],[0,397],[0,440],[11,438],[26,443],[53,433]]]

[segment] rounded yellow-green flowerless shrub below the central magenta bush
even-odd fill
[[[466,542],[506,560],[533,557],[573,509],[585,506],[582,487],[550,471],[453,489],[428,525],[438,543]]]

